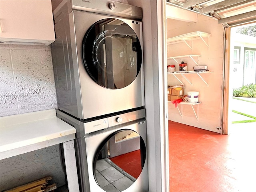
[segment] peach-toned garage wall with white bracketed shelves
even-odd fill
[[[171,8],[169,13],[175,10],[168,8]],[[214,18],[196,13],[186,20],[169,15],[166,26],[167,65],[174,67],[174,71],[167,72],[167,82],[170,87],[182,86],[183,90],[178,93],[174,88],[168,90],[168,120],[220,133],[223,26]],[[180,69],[182,62],[186,64],[185,70]],[[199,67],[201,70],[197,70]],[[198,100],[186,102],[186,95],[191,93],[196,93]],[[182,97],[184,102],[173,103]]]

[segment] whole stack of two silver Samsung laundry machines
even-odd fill
[[[148,191],[141,19],[108,0],[54,10],[56,113],[77,130],[81,192]]]

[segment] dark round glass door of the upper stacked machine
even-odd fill
[[[128,24],[118,19],[103,19],[86,32],[82,60],[97,84],[121,89],[131,84],[140,72],[142,49]]]

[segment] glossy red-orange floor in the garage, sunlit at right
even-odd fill
[[[256,192],[256,123],[230,135],[169,121],[170,192]]]

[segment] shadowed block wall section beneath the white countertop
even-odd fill
[[[58,145],[3,159],[0,166],[1,192],[46,176],[57,187],[66,184]]]

